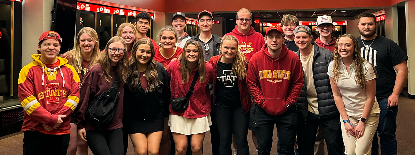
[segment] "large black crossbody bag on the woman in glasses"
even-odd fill
[[[115,77],[112,87],[95,97],[88,107],[87,113],[91,121],[96,125],[106,125],[114,118],[120,97],[120,80]]]

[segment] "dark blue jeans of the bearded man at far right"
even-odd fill
[[[378,99],[381,114],[379,125],[376,130],[381,141],[382,155],[398,155],[396,141],[396,115],[398,114],[398,106],[388,108],[388,98]],[[379,154],[378,136],[375,133],[372,143],[372,155]]]

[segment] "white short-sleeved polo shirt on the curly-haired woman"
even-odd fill
[[[343,59],[340,58],[339,67],[339,78],[337,80],[337,87],[340,89],[342,99],[344,103],[344,109],[346,109],[347,116],[361,117],[363,114],[364,105],[366,104],[366,87],[361,89],[360,86],[356,85],[355,75],[356,67],[354,64],[350,65],[350,73],[347,73],[346,66],[343,64]],[[366,81],[376,78],[376,74],[373,70],[373,66],[363,61],[364,73],[366,75]],[[329,64],[329,71],[327,75],[333,78],[334,61]],[[379,104],[376,101],[373,104],[373,108],[370,114],[380,113]]]

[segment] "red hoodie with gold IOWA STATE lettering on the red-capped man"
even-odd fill
[[[285,44],[281,48],[281,55],[274,59],[264,44],[251,57],[247,72],[247,84],[256,104],[274,116],[293,106],[303,88],[300,58]]]

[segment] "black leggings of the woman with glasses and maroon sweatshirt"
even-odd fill
[[[86,131],[86,143],[94,155],[123,155],[122,128]]]

